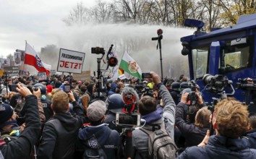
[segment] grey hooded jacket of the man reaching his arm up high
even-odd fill
[[[146,121],[143,128],[152,130],[150,124],[161,125],[162,122],[165,122],[166,132],[174,139],[175,103],[164,85],[160,87],[160,96],[163,99],[163,108],[158,107],[156,111],[142,116],[142,119]],[[135,129],[132,132],[132,145],[135,147],[135,158],[146,158],[148,155],[148,134],[140,129]]]

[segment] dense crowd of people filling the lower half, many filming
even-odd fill
[[[105,87],[64,75],[1,79],[0,159],[256,158],[247,106],[226,98],[209,110],[184,75],[150,74]],[[116,124],[116,113],[127,123]]]

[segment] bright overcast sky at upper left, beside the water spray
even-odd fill
[[[0,0],[0,57],[25,49],[25,40],[40,51],[56,42],[54,30],[81,0]],[[95,0],[82,0],[93,7]]]

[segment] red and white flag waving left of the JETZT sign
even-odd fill
[[[40,59],[39,54],[28,43],[26,43],[24,64],[34,66],[38,72],[46,72],[47,75],[51,72],[51,65],[45,64]]]

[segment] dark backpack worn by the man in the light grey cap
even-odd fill
[[[87,142],[90,147],[85,148],[85,152],[82,155],[83,159],[107,159],[106,153],[104,152],[103,148],[98,144],[95,135],[93,135],[93,137],[90,137]]]

